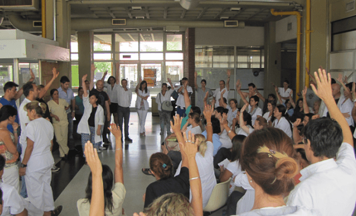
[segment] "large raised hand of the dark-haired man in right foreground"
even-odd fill
[[[333,98],[330,74],[326,74],[325,70],[318,69],[318,72],[314,72],[314,75],[317,89],[314,84],[312,84],[312,89],[316,96],[324,101]]]

